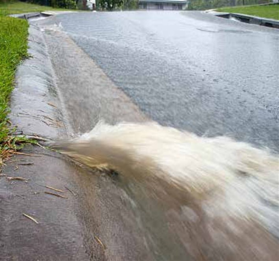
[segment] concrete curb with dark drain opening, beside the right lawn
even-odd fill
[[[239,13],[224,13],[224,12],[217,12],[215,9],[206,10],[205,13],[213,14],[215,16],[221,18],[232,19],[234,21],[240,21],[243,23],[249,23],[253,25],[262,25],[272,28],[279,29],[279,21],[275,19],[268,19],[258,16],[252,16],[247,14],[239,14]]]

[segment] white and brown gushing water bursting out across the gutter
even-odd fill
[[[143,187],[194,260],[278,260],[279,161],[267,149],[156,123],[103,122],[54,147]]]

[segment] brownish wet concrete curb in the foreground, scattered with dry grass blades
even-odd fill
[[[56,153],[42,148],[25,148],[5,167],[10,177],[1,177],[1,260],[89,260],[83,242],[83,226],[74,211],[76,199],[64,185],[77,191],[69,177],[79,175],[74,167]],[[45,154],[44,154],[45,153]],[[24,165],[26,164],[26,165]],[[30,164],[30,165],[28,165]],[[65,177],[65,170],[68,178]],[[67,193],[61,198],[45,194],[57,193],[45,188],[52,186]],[[23,216],[35,218],[39,224]],[[98,249],[97,242],[94,245]],[[99,247],[98,258],[102,259]]]

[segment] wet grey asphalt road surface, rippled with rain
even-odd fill
[[[160,124],[279,150],[277,29],[190,11],[72,13],[56,23]]]

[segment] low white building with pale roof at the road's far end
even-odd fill
[[[186,10],[188,0],[139,0],[140,9],[151,10]]]

